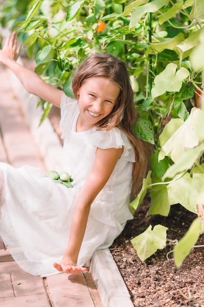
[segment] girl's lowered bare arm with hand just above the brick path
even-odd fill
[[[122,152],[122,148],[97,149],[91,173],[76,201],[65,255],[60,264],[53,264],[58,271],[76,274],[86,270],[86,268],[79,268],[76,263],[85,234],[91,204],[111,176]]]

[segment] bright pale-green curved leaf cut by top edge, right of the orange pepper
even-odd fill
[[[136,26],[138,24],[139,20],[146,13],[157,12],[167,2],[168,2],[168,0],[153,0],[152,2],[146,3],[144,5],[134,7],[132,17],[131,17],[131,20],[130,20],[130,28]]]

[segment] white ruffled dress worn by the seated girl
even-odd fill
[[[25,165],[16,169],[0,163],[0,236],[19,266],[32,275],[59,273],[52,263],[60,263],[64,255],[74,204],[91,171],[97,147],[123,147],[123,153],[91,205],[77,264],[89,266],[94,251],[109,247],[133,218],[129,201],[135,156],[128,138],[118,128],[76,132],[78,115],[76,100],[63,94],[62,170],[74,179],[73,188],[54,183],[38,168]]]

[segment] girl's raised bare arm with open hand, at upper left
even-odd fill
[[[0,62],[7,66],[21,81],[28,93],[36,95],[47,102],[60,107],[63,91],[47,84],[35,72],[25,68],[16,62],[20,46],[17,46],[17,35],[13,32],[0,50]]]

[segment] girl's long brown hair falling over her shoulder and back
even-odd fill
[[[91,77],[105,77],[120,87],[120,94],[112,112],[97,123],[97,127],[109,130],[120,128],[127,135],[135,151],[136,162],[133,165],[133,184],[131,198],[134,199],[141,188],[142,179],[146,176],[151,153],[150,144],[139,139],[134,133],[136,108],[134,93],[131,87],[126,64],[111,54],[91,54],[79,66],[72,79],[72,89],[76,99],[77,90],[84,81]]]

